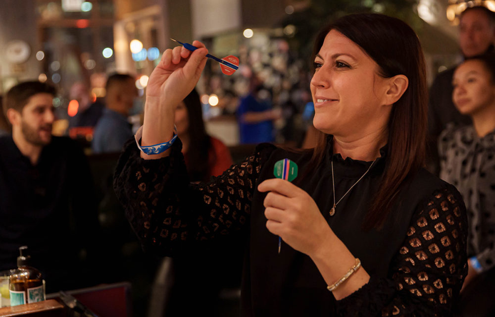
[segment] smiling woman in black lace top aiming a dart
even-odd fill
[[[153,71],[142,145],[172,138],[171,105],[205,63],[194,45],[201,49],[167,50]],[[219,178],[191,185],[180,143],[152,156],[129,145],[115,179],[127,216],[161,254],[244,231],[243,316],[445,316],[465,275],[466,218],[455,188],[421,168],[417,36],[396,18],[348,15],[321,31],[314,52],[313,151],[262,144]],[[273,178],[284,158],[298,165],[296,184]]]

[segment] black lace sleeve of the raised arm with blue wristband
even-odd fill
[[[193,184],[180,142],[169,157],[151,160],[141,159],[131,142],[115,170],[115,192],[143,248],[173,255],[244,226],[262,162],[274,149],[262,144],[209,183]]]

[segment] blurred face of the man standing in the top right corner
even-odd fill
[[[495,27],[481,10],[465,12],[459,23],[459,31],[459,45],[466,57],[483,54],[494,44]]]

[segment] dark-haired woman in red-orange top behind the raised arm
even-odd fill
[[[191,181],[208,181],[211,176],[220,175],[232,165],[225,144],[206,134],[201,102],[195,89],[177,105],[175,125]]]

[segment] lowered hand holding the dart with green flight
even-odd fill
[[[314,200],[296,185],[271,178],[261,182],[258,190],[268,192],[263,201],[268,231],[295,250],[312,256],[335,237]]]

